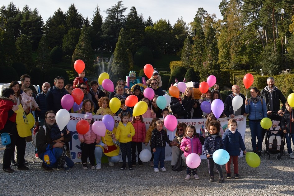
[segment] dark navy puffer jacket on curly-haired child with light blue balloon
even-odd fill
[[[205,156],[207,156],[208,154],[212,155],[218,149],[226,150],[224,142],[222,141],[221,133],[218,132],[217,134],[217,137],[213,138],[209,132],[205,133],[206,138],[203,146]],[[212,159],[212,156],[210,156],[210,158]]]

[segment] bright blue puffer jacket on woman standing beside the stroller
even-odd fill
[[[249,120],[261,120],[268,117],[264,99],[259,100],[257,103],[254,103],[249,99],[248,105],[245,105],[245,112],[247,114],[249,113]]]

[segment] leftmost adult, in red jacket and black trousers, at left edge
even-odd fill
[[[0,98],[0,133],[10,133],[11,143],[7,145],[3,154],[3,170],[8,173],[14,172],[10,168],[10,160],[17,146],[17,169],[28,170],[25,166],[26,138],[20,137],[16,129],[16,113],[18,106],[14,105],[14,90],[5,88]]]

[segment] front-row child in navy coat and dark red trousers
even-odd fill
[[[230,155],[229,161],[226,163],[226,178],[231,177],[231,161],[233,159],[235,179],[239,178],[239,168],[238,168],[238,156],[240,155],[239,148],[246,154],[246,147],[240,132],[238,132],[237,121],[235,119],[229,119],[228,129],[222,136],[226,151]]]

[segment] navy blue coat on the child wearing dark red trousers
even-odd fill
[[[242,151],[246,150],[241,133],[238,132],[238,129],[236,129],[235,133],[232,133],[232,131],[227,129],[222,136],[222,140],[224,141],[226,151],[228,151],[230,156],[239,156],[239,148],[241,148]]]

